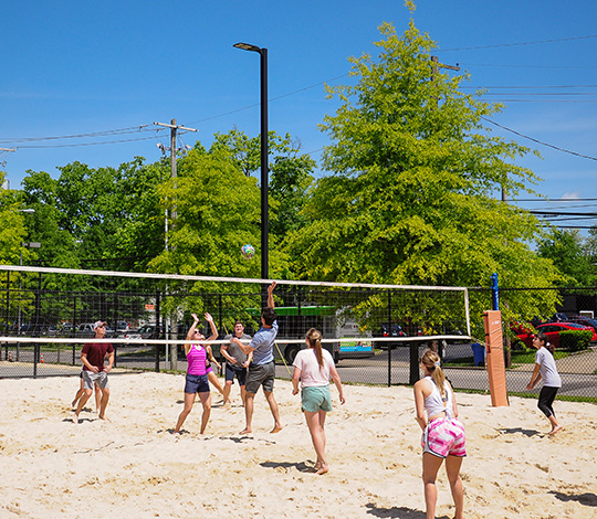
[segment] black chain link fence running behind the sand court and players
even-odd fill
[[[97,283],[96,278],[85,277],[87,286],[81,289],[74,286],[72,276],[59,278],[43,272],[0,275],[3,317],[0,337],[10,338],[0,340],[0,378],[77,375],[82,345],[92,337],[81,325],[96,319],[112,325],[109,340],[116,351],[115,373],[184,372],[187,364],[181,346],[192,320],[190,309],[199,315],[208,310],[213,314],[221,333],[213,343],[218,357],[223,336],[237,318],[244,320],[249,333],[254,332],[263,300],[263,287],[259,284],[234,292],[230,285],[214,290],[213,286],[198,287],[171,279],[139,283],[118,278]],[[470,316],[462,294],[450,290],[290,284],[279,287],[276,373],[280,378],[292,375],[293,353],[303,346],[305,331],[316,327],[324,331],[324,346],[337,360],[344,382],[380,386],[412,384],[419,379],[420,354],[432,346],[455,389],[489,392],[483,366],[482,313],[478,309],[491,308],[495,294],[489,288],[468,290]],[[545,300],[558,301],[557,315],[537,313],[540,292],[549,293]],[[523,321],[534,327],[545,320],[574,320],[597,314],[596,306],[594,287],[500,288],[509,392],[527,393],[525,388],[534,367],[533,351],[511,349],[516,339],[512,322]],[[513,307],[517,308],[515,315],[509,313]],[[348,342],[346,338],[354,340]],[[561,354],[556,360],[563,379],[558,395],[597,399],[597,348],[590,346]]]

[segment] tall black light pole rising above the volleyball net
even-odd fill
[[[233,45],[243,51],[258,52],[261,56],[261,278],[270,277],[269,269],[269,201],[268,201],[268,49],[251,45],[250,43],[235,43]]]

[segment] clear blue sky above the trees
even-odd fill
[[[168,130],[19,139],[172,118],[199,130],[181,136],[187,145],[209,146],[214,133],[233,127],[258,135],[259,55],[232,47],[241,41],[269,49],[270,129],[290,133],[318,159],[328,138],[317,125],[337,106],[325,99],[323,83],[349,81],[348,56],[375,55],[371,42],[384,21],[398,33],[407,28],[401,0],[4,2],[0,147],[17,151],[0,151],[2,169],[19,188],[29,169],[57,177],[56,167],[73,161],[97,168],[143,156],[153,162]],[[416,25],[438,42],[441,62],[468,71],[465,85],[489,88],[485,99],[506,102],[495,123],[590,157],[597,156],[596,21],[590,0],[419,0],[415,12]],[[543,156],[519,163],[545,180],[535,189],[555,201],[522,206],[595,211],[595,201],[557,199],[597,201],[596,160],[498,127],[494,135]],[[97,145],[106,140],[119,142]]]

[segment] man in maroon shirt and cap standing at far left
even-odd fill
[[[93,325],[95,338],[103,339],[106,335],[106,322],[96,321]],[[108,356],[108,366],[104,366],[104,360]],[[78,414],[93,394],[93,386],[97,384],[102,390],[102,401],[100,402],[100,419],[106,420],[105,412],[109,400],[109,385],[107,374],[114,366],[114,348],[109,342],[85,342],[81,351],[81,362],[83,362],[83,386],[85,393],[78,400],[78,405],[73,415],[73,422],[78,423]]]

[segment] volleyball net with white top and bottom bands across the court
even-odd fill
[[[471,335],[463,287],[276,282],[276,353],[289,363],[310,328],[323,332],[336,360]],[[128,360],[145,369],[181,369],[177,363],[184,361],[191,314],[199,316],[206,337],[203,315],[213,316],[219,337],[211,343],[218,357],[237,320],[249,335],[259,329],[270,283],[0,265],[0,361],[80,366],[81,345],[96,340],[93,324],[102,320],[121,366]]]

